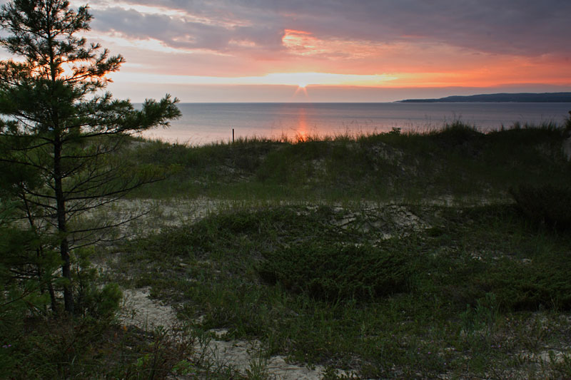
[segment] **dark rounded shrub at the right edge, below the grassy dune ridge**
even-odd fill
[[[571,227],[571,187],[520,185],[510,188],[517,207],[535,222],[563,230]]]

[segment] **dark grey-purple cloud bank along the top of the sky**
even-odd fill
[[[169,46],[226,50],[236,40],[281,48],[284,29],[317,38],[445,43],[485,53],[569,54],[571,1],[502,0],[126,0],[206,21],[115,8],[94,11],[94,29],[149,36]]]

